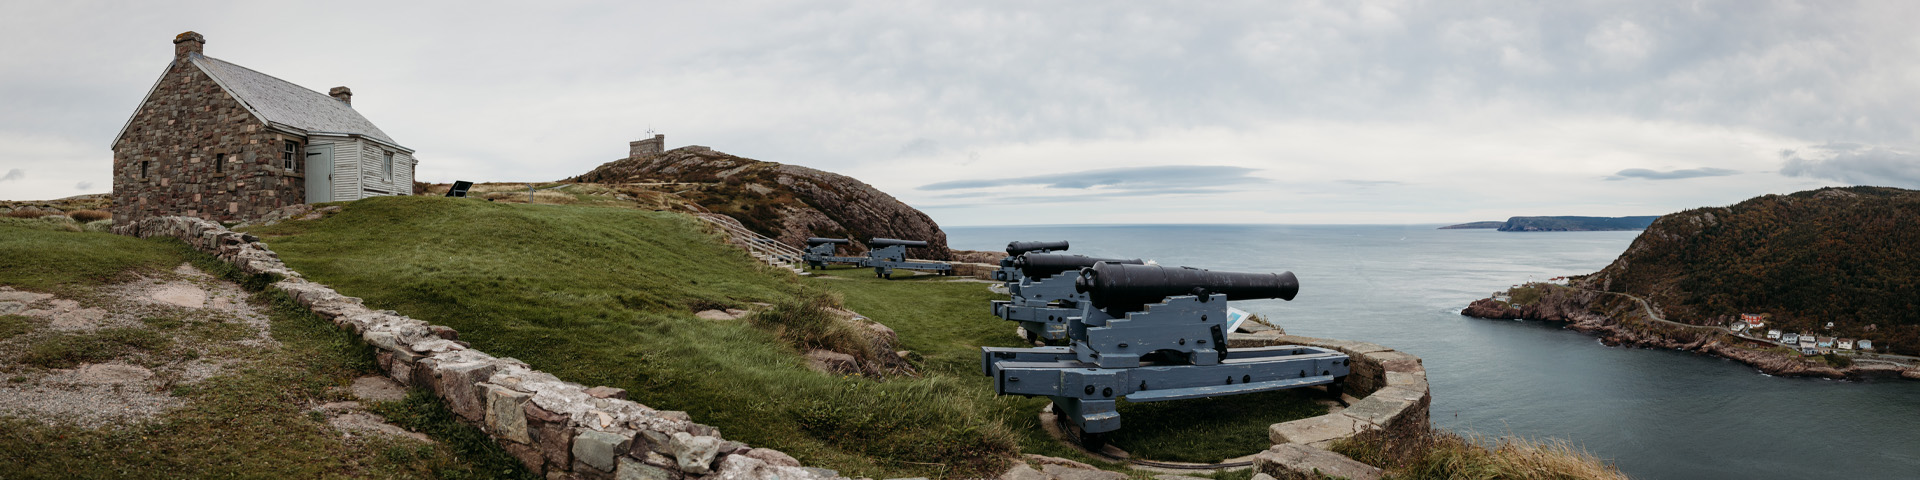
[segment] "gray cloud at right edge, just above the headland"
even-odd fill
[[[1820,144],[1782,150],[1780,175],[1876,186],[1920,186],[1920,156],[1882,146]]]

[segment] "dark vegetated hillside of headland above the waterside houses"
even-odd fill
[[[1578,282],[1647,298],[1668,321],[1772,313],[1778,328],[1920,353],[1916,244],[1920,192],[1820,188],[1661,217]]]

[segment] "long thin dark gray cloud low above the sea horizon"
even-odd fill
[[[1037,186],[1037,188],[1060,188],[1060,190],[1104,188],[1135,196],[1196,194],[1196,192],[1219,192],[1223,186],[1229,184],[1265,182],[1265,179],[1248,177],[1256,169],[1227,167],[1227,165],[1129,167],[1129,169],[1098,169],[1098,171],[1077,171],[1077,173],[1056,173],[1056,175],[1035,175],[1035,177],[1014,177],[1014,179],[931,182],[931,184],[922,184],[920,190]]]

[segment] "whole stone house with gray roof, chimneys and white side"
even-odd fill
[[[113,225],[413,194],[413,150],[353,111],[351,90],[207,58],[205,42],[173,38],[173,61],[113,138]]]

